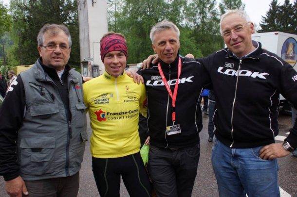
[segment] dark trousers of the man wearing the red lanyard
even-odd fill
[[[148,172],[157,197],[191,197],[200,145],[176,150],[149,147]]]

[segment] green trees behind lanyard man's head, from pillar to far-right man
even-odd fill
[[[168,19],[180,29],[180,54],[203,57],[223,47],[215,7],[213,0],[109,0],[109,31],[126,36],[128,63],[139,63],[153,53],[150,29]]]

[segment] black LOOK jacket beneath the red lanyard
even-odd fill
[[[177,81],[177,55],[170,65],[160,61],[166,80],[170,82],[172,94]],[[158,64],[147,70],[139,70],[148,92],[148,135],[150,144],[159,148],[185,148],[199,144],[202,115],[199,96],[203,84],[210,78],[204,68],[193,59],[182,59],[182,72],[176,98],[176,124],[181,133],[167,135],[166,127],[172,125],[172,99],[161,79]]]

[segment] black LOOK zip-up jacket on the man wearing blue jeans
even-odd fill
[[[261,49],[241,59],[226,49],[198,59],[207,69],[216,97],[216,137],[232,148],[274,143],[279,93],[297,107],[297,72],[276,54]],[[297,147],[297,125],[285,139]]]

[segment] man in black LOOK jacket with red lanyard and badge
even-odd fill
[[[169,21],[150,31],[160,63],[139,71],[148,92],[148,171],[158,197],[191,197],[200,156],[199,96],[206,70],[179,56],[179,30]]]

